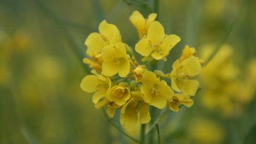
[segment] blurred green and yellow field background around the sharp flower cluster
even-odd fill
[[[107,20],[133,47],[135,9],[147,16],[154,1],[0,0],[0,143],[131,143],[79,85],[88,34]],[[171,71],[186,44],[202,57],[223,47],[193,107],[159,122],[162,143],[256,143],[255,14],[253,0],[159,0],[159,21],[181,42],[158,69]]]

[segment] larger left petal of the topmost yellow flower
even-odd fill
[[[144,30],[146,21],[139,11],[133,11],[130,16],[130,21],[138,29],[138,31],[142,32]]]

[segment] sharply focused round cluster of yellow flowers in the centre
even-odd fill
[[[166,35],[156,16],[152,13],[145,19],[138,11],[130,16],[140,37],[135,51],[143,56],[142,61],[167,61],[166,56],[181,40],[177,35]],[[99,33],[88,35],[85,45],[88,57],[83,62],[89,64],[94,75],[85,76],[80,87],[94,92],[92,102],[97,109],[106,105],[109,117],[119,109],[124,128],[149,123],[150,105],[158,109],[168,106],[172,111],[179,111],[180,105],[193,105],[191,97],[199,87],[193,78],[200,73],[202,63],[194,48],[186,45],[180,59],[173,63],[173,71],[164,74],[150,71],[150,63],[139,64],[133,49],[122,42],[118,28],[106,20],[100,23]]]

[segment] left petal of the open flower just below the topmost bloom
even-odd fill
[[[152,52],[152,47],[150,46],[149,40],[147,38],[141,39],[135,45],[135,51],[142,56],[149,56],[149,54]]]

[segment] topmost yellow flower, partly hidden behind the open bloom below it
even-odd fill
[[[137,28],[140,39],[142,39],[144,35],[147,35],[147,30],[149,29],[151,23],[155,21],[156,17],[156,13],[151,13],[146,19],[139,11],[133,11],[130,16],[130,21]]]

